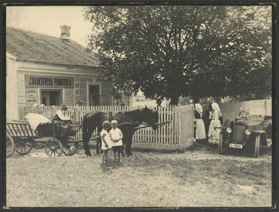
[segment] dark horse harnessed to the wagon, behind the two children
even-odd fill
[[[98,133],[102,130],[103,121],[112,121],[115,119],[118,122],[118,128],[123,133],[123,146],[122,146],[122,155],[123,147],[125,146],[125,153],[127,156],[131,156],[131,146],[133,134],[135,132],[134,128],[140,126],[142,123],[147,123],[151,125],[153,130],[157,130],[158,126],[155,124],[158,123],[158,112],[144,107],[142,109],[135,109],[127,112],[118,112],[116,114],[112,114],[112,112],[104,113],[100,111],[93,111],[86,114],[83,119],[82,127],[82,142],[84,144],[84,150],[86,156],[91,156],[91,152],[89,150],[89,139],[93,133],[93,131],[97,128]],[[97,140],[96,153],[100,153],[102,142],[100,139]]]

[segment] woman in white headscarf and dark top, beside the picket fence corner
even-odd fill
[[[199,103],[195,104],[195,122],[196,122],[196,129],[195,129],[195,139],[202,140],[206,139],[206,133],[204,128],[204,121],[202,120],[202,105]]]

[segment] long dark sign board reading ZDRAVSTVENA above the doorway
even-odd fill
[[[25,75],[25,87],[73,88],[74,77]]]

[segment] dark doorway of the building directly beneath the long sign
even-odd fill
[[[62,91],[43,90],[40,102],[45,106],[59,106],[62,104]]]

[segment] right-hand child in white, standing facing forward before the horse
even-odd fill
[[[116,152],[118,154],[118,161],[122,162],[120,160],[120,152],[121,152],[121,147],[123,145],[122,143],[122,138],[123,134],[119,128],[117,128],[117,121],[112,120],[112,130],[110,130],[109,135],[110,139],[112,141],[112,150],[114,151],[114,160],[116,160]]]

